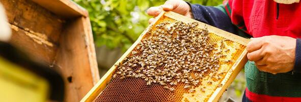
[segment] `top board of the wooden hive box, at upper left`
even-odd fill
[[[32,0],[32,1],[64,18],[89,16],[87,10],[85,10],[84,8],[80,7],[79,5],[77,5],[76,3],[70,0],[56,0],[56,1]]]

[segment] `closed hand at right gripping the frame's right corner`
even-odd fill
[[[293,70],[295,63],[296,39],[286,36],[264,36],[253,38],[247,45],[248,59],[257,68],[269,73]]]

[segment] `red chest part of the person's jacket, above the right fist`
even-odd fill
[[[272,0],[229,0],[226,11],[233,24],[255,38],[267,35],[301,38],[301,3],[286,5]]]

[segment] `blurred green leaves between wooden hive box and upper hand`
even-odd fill
[[[73,0],[90,14],[94,41],[97,46],[122,47],[123,51],[148,26],[145,11],[165,3],[163,0]],[[217,6],[223,0],[189,0],[190,3]]]

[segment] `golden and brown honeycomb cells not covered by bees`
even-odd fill
[[[162,16],[144,35],[141,41],[158,37],[158,35],[153,34],[154,31],[158,29],[156,25],[166,23],[165,26],[169,27],[174,22],[176,22],[175,19]],[[204,29],[198,30],[204,31]],[[177,36],[176,34],[172,35],[173,39]],[[116,75],[116,73],[120,71],[118,70],[118,67],[120,66],[116,65],[116,70],[113,73],[114,75],[112,75],[110,83],[107,84],[106,88],[94,99],[94,101],[208,101],[213,92],[218,87],[223,86],[221,82],[224,80],[227,72],[231,71],[231,67],[242,54],[245,46],[210,32],[207,34],[207,37],[206,44],[210,44],[212,45],[212,48],[214,48],[214,50],[208,52],[209,56],[216,56],[219,52],[222,57],[218,58],[218,61],[216,61],[218,64],[216,70],[202,73],[202,78],[199,79],[197,85],[191,88],[185,88],[186,84],[180,82],[176,85],[171,85],[170,83],[167,83],[167,85],[161,85],[160,83],[152,83],[149,85],[147,81],[140,77],[125,78],[121,75]],[[128,56],[134,57],[141,55],[142,52],[139,50],[139,45],[136,45]],[[124,63],[124,61],[121,63]],[[125,66],[132,69],[131,71],[134,72],[142,68],[141,65]],[[162,66],[163,65],[157,66],[156,69],[163,70],[165,67]],[[189,72],[190,77],[195,78],[195,73],[201,74],[201,72],[191,71]]]

